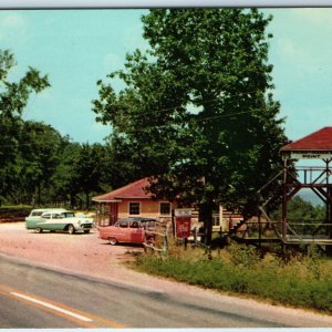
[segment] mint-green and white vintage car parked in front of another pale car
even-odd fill
[[[74,234],[76,231],[90,232],[93,227],[93,219],[86,217],[75,217],[75,214],[68,210],[46,210],[39,219],[35,219],[34,226],[32,222],[27,221],[28,229],[35,229],[35,232],[42,232],[43,230],[50,231],[68,231]],[[29,226],[28,226],[29,225]]]

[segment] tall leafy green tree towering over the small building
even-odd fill
[[[286,143],[272,96],[266,28],[256,9],[157,9],[143,17],[151,48],[127,55],[94,101],[113,142],[157,196],[196,203],[210,238],[217,204],[257,211],[257,190],[276,174]],[[268,194],[267,194],[268,195]]]

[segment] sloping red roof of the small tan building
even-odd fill
[[[92,198],[94,201],[121,201],[124,198],[152,198],[152,194],[144,190],[149,185],[147,178],[139,179],[122,188]]]

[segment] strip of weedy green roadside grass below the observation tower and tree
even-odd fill
[[[332,260],[294,255],[261,258],[253,247],[231,243],[208,256],[204,249],[172,246],[167,256],[136,257],[135,268],[152,274],[231,293],[332,313]]]

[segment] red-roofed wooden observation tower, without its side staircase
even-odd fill
[[[323,127],[280,149],[283,167],[281,240],[286,245],[303,243],[332,247],[332,127]],[[299,160],[315,166],[297,166]],[[289,201],[300,190],[312,190],[326,207],[324,220],[290,220]]]

